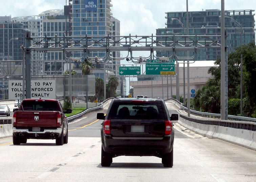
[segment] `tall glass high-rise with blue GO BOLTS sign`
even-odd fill
[[[88,3],[90,2],[90,4]],[[80,1],[73,0],[72,2],[72,35],[73,36],[92,36],[92,35],[120,35],[120,21],[112,17],[111,0],[91,0],[91,1]],[[99,40],[102,37],[99,37]],[[96,40],[96,39],[94,39]],[[90,57],[103,58],[106,52],[91,52]],[[83,53],[74,53],[73,57],[82,57]],[[112,53],[112,57],[120,57],[120,51],[115,51]],[[119,73],[119,59],[111,59],[106,64],[106,69],[112,71],[113,74]],[[93,70],[95,76],[104,75],[105,69],[103,69],[103,64],[94,65],[98,70]],[[101,73],[99,73],[101,71]],[[103,77],[100,77],[104,79]],[[123,79],[119,78],[119,81]],[[119,84],[116,92],[121,93],[121,85]],[[126,90],[122,93],[126,94]]]

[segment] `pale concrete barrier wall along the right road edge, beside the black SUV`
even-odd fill
[[[201,124],[193,121],[188,121],[182,117],[179,117],[178,123],[208,138],[216,138],[252,150],[256,150],[256,131]]]

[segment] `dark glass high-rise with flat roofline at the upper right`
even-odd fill
[[[228,35],[228,53],[234,52],[235,49],[242,44],[255,42],[255,13],[253,12],[254,10],[225,10],[225,28]],[[166,28],[156,29],[156,35],[187,35],[187,12],[166,12],[166,14]],[[221,11],[218,9],[189,11],[189,34],[220,35],[220,15]],[[242,26],[242,29],[239,24]],[[241,30],[242,42],[240,42]],[[165,54],[165,52],[157,52],[157,56],[159,57],[165,56]],[[178,52],[177,54],[182,56],[183,52]],[[193,51],[190,51],[190,56],[193,54]],[[220,57],[220,48],[199,49],[197,51],[197,60],[216,60],[218,57]]]

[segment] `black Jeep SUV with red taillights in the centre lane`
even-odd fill
[[[126,156],[156,156],[165,167],[173,166],[174,129],[165,102],[150,98],[113,99],[101,128],[101,165],[110,166],[112,158]]]

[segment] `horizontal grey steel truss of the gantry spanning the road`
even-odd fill
[[[149,60],[159,59],[156,51],[171,51],[172,55],[161,58],[159,62],[168,58],[195,59],[197,49],[220,48],[220,35],[151,35],[151,36],[51,36],[51,37],[28,37],[33,44],[25,49],[27,51],[48,52],[62,51],[80,52],[80,59],[87,59],[92,63],[108,63],[111,59],[126,59],[133,63],[147,63]],[[194,56],[177,57],[176,51],[194,51]],[[127,51],[127,56],[112,57],[113,51]],[[135,51],[148,51],[146,57],[134,57]],[[103,57],[92,57],[91,52],[104,52]],[[68,57],[66,57],[69,59]],[[49,61],[49,60],[48,60]],[[166,62],[166,61],[165,61]],[[168,61],[167,61],[168,62]]]

